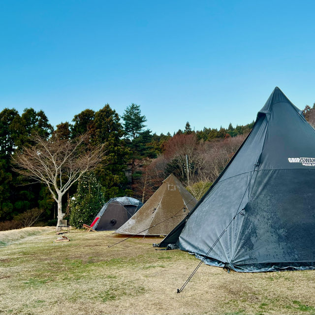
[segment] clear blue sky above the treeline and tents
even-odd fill
[[[0,110],[53,125],[105,103],[153,132],[255,119],[279,86],[315,102],[315,1],[0,1]]]

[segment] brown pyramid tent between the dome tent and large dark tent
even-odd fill
[[[116,230],[120,234],[166,235],[197,200],[173,175],[169,175],[143,207]]]

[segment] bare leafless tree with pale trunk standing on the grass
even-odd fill
[[[45,184],[58,205],[58,223],[63,220],[62,198],[87,171],[95,169],[105,155],[103,145],[87,145],[88,134],[73,140],[52,136],[48,140],[36,134],[32,146],[12,156],[15,171],[34,182]]]

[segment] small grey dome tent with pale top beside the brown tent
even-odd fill
[[[96,215],[99,220],[94,224],[96,231],[115,230],[130,219],[143,205],[132,197],[115,197],[106,202]],[[94,220],[95,220],[94,219]]]

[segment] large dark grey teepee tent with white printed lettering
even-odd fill
[[[159,246],[202,259],[224,231],[206,263],[243,272],[315,269],[314,184],[315,129],[277,87],[218,179]]]

